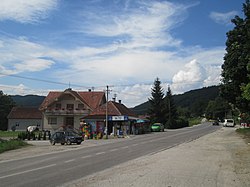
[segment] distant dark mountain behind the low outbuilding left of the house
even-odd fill
[[[39,107],[45,96],[38,95],[12,95],[11,98],[16,103],[17,106],[30,106],[30,107]]]

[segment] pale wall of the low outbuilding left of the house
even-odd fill
[[[28,126],[37,126],[42,129],[42,119],[9,119],[8,130],[11,131],[12,127],[16,127],[16,131],[26,131]]]

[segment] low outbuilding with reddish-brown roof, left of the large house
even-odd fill
[[[13,107],[7,118],[9,131],[26,131],[28,126],[42,129],[42,112],[38,108]]]

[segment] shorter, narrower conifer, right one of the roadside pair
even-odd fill
[[[174,128],[176,125],[177,120],[177,108],[174,103],[172,91],[170,87],[168,87],[168,91],[165,97],[165,104],[166,104],[166,119],[167,119],[167,127]]]

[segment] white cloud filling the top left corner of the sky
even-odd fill
[[[57,0],[1,0],[0,20],[34,23],[55,9]]]

